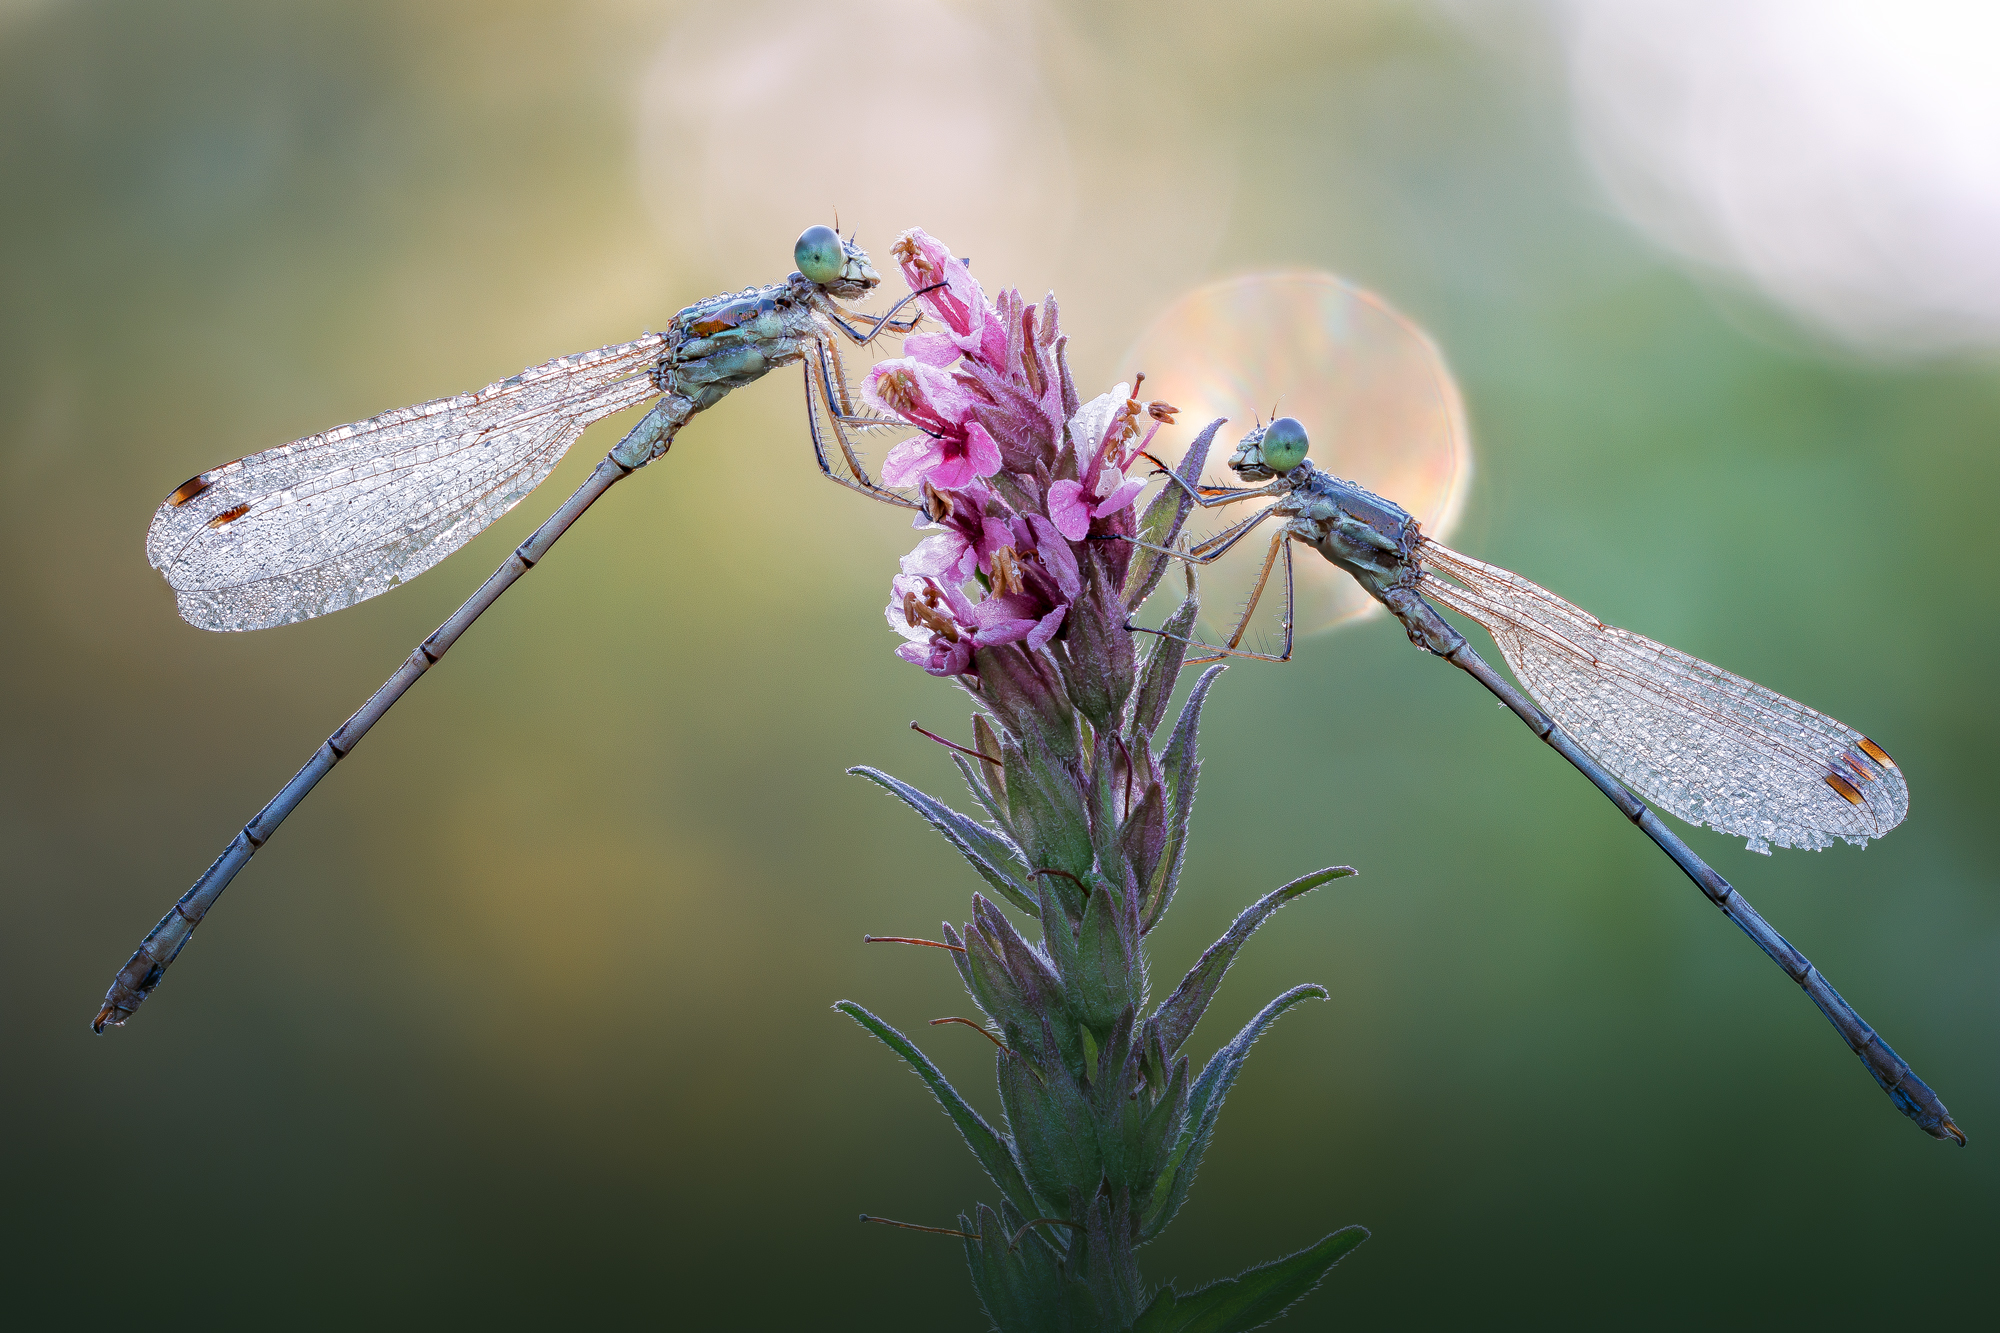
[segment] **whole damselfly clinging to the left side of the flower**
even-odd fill
[[[840,358],[842,338],[866,346],[884,332],[910,332],[916,318],[894,316],[914,294],[882,316],[848,310],[842,302],[864,298],[880,276],[852,238],[826,226],[798,238],[794,260],[798,272],[784,282],[710,296],[662,332],[224,462],[166,496],[146,556],[172,584],[180,614],[212,630],[290,624],[416,578],[534,490],[584,426],[656,398],[576,494],[418,644],[160,919],[112,981],[96,1031],[132,1017],[230,879],[466,626],[600,494],[662,456],[696,412],[732,388],[802,362],[820,470],[874,500],[916,508],[862,466],[852,432],[900,422],[856,410]]]

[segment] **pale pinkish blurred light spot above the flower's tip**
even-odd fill
[[[836,208],[884,276],[912,224],[980,256],[982,276],[1002,256],[970,238],[1032,236],[1046,260],[1074,188],[1022,12],[768,0],[676,18],[640,96],[656,222],[692,240],[698,220],[704,258],[742,282],[790,270],[792,238]]]

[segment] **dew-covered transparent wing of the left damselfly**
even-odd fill
[[[226,462],[166,496],[146,558],[188,624],[250,630],[386,592],[514,508],[584,426],[658,396],[664,334],[560,356]]]

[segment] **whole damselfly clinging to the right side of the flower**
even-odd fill
[[[1406,322],[1378,328],[1386,336],[1408,330],[1422,338]],[[1408,346],[1436,356],[1428,340]],[[1336,360],[1324,364],[1320,374],[1338,380],[1350,374],[1350,366]],[[1448,378],[1442,360],[1436,374]],[[1182,396],[1178,384],[1168,384],[1166,392]],[[1168,480],[1188,488],[1204,508],[1250,510],[1192,546],[1172,552],[1152,546],[1200,566],[1214,566],[1232,550],[1248,556],[1240,558],[1250,570],[1246,604],[1212,656],[1290,658],[1300,620],[1300,570],[1292,546],[1312,546],[1324,558],[1308,556],[1308,568],[1348,574],[1402,620],[1416,646],[1492,691],[1610,797],[1812,997],[1904,1115],[1932,1137],[1962,1145],[1964,1133],[1910,1065],[1642,801],[1654,801],[1690,823],[1740,835],[1752,851],[1768,851],[1770,845],[1820,849],[1836,839],[1864,845],[1902,823],[1910,807],[1902,771],[1888,753],[1822,713],[1686,652],[1608,626],[1518,574],[1438,544],[1400,504],[1318,470],[1306,460],[1306,448],[1304,426],[1284,416],[1256,426],[1238,444],[1230,468],[1242,484],[1186,486],[1178,478]],[[1184,468],[1182,476],[1190,470]],[[1250,540],[1260,528],[1270,534],[1268,542]],[[1282,602],[1282,646],[1274,652],[1246,650],[1242,642],[1258,602],[1270,594]],[[1432,602],[1486,628],[1528,693],[1494,673]]]

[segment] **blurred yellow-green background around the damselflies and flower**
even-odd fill
[[[996,10],[1004,10],[996,12]],[[602,456],[392,596],[258,634],[144,560],[182,478],[780,280],[838,208],[1062,296],[1086,394],[1182,292],[1324,268],[1424,324],[1454,546],[1880,741],[1866,851],[1694,847],[1972,1137],[1556,755],[1384,618],[1208,711],[1164,991],[1254,897],[1204,1057],[1280,989],[1182,1287],[1344,1223],[1296,1327],[1964,1323],[2000,1145],[2000,372],[1814,332],[1612,202],[1540,6],[0,4],[4,1177],[20,1327],[980,1327],[994,1199],[894,1057],[996,1115],[942,953],[976,877],[844,777],[964,799],[892,656],[906,520],[814,474],[796,374],[698,418],[234,883],[112,971]],[[1592,140],[1594,142],[1594,140]],[[1602,144],[1600,144],[1602,148]],[[892,280],[892,286],[900,286]],[[1778,288],[1770,288],[1778,290]],[[1838,330],[1836,330],[1838,332]],[[1232,340],[1218,330],[1216,354]]]

